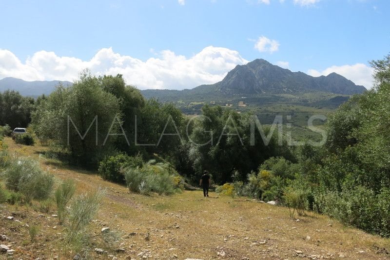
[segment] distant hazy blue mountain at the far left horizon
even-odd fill
[[[10,89],[19,91],[22,96],[48,95],[53,92],[59,83],[62,83],[64,86],[72,85],[72,82],[69,81],[25,81],[8,77],[0,80],[0,92]]]

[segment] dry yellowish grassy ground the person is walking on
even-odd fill
[[[259,203],[247,198],[221,197],[211,192],[184,191],[171,197],[133,194],[124,186],[102,180],[96,172],[70,167],[40,154],[45,147],[16,145],[6,138],[11,153],[39,160],[58,180],[74,179],[78,192],[102,187],[106,198],[93,233],[110,227],[121,234],[116,244],[106,245],[99,236],[91,245],[91,259],[388,259],[390,240],[342,225],[314,213],[291,220],[285,207]],[[65,250],[64,230],[51,217],[52,205],[2,205],[0,235],[9,240],[1,244],[15,250],[15,259],[72,259],[77,252]],[[6,219],[14,216],[15,220]],[[297,217],[297,216],[296,216]],[[28,225],[38,225],[39,233],[31,242]],[[56,227],[56,228],[54,228]],[[129,236],[136,232],[134,236]],[[149,234],[149,240],[145,238]],[[106,253],[97,254],[94,248]],[[118,249],[124,249],[124,251]],[[5,257],[0,254],[0,258]],[[144,258],[145,258],[144,257]]]

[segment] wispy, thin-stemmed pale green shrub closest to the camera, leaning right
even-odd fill
[[[66,240],[81,250],[88,240],[87,228],[98,213],[105,190],[98,189],[95,192],[81,194],[74,198],[66,215]]]

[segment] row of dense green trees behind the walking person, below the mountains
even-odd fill
[[[164,160],[187,182],[196,183],[208,170],[216,183],[223,183],[245,180],[272,156],[291,156],[286,144],[278,144],[276,132],[266,146],[256,131],[255,145],[250,145],[249,114],[204,106],[202,116],[191,118],[171,103],[145,100],[121,75],[85,72],[72,86],[59,86],[37,103],[30,124],[35,135],[50,144],[49,153],[83,167],[98,169],[103,160],[125,154]],[[119,176],[102,175],[124,182],[114,168]]]

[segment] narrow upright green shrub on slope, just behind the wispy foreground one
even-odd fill
[[[66,205],[69,200],[72,199],[76,192],[76,185],[74,180],[64,180],[55,192],[55,200],[57,203],[57,215],[59,223],[62,223],[64,219]]]

